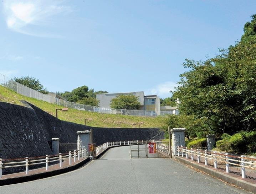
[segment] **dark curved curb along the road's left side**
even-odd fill
[[[81,162],[79,162],[79,163],[77,163],[73,166],[64,167],[64,168],[53,170],[53,171],[41,172],[41,173],[31,174],[31,175],[22,176],[22,177],[2,179],[2,180],[0,180],[0,186],[8,185],[8,184],[17,184],[17,183],[28,182],[28,181],[31,181],[31,180],[37,180],[37,179],[41,179],[41,178],[52,177],[52,176],[55,176],[55,175],[58,175],[58,174],[63,174],[63,173],[66,173],[66,172],[70,172],[70,171],[73,171],[75,169],[78,169],[78,168],[84,166],[90,160],[91,160],[90,158],[86,158],[85,160],[83,160],[83,161],[81,161]]]

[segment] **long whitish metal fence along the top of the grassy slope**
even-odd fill
[[[11,90],[14,90],[15,92],[17,92],[23,96],[39,99],[39,100],[57,104],[57,105],[60,105],[63,107],[78,109],[80,111],[91,111],[91,112],[106,113],[106,114],[150,116],[150,117],[166,116],[168,114],[173,114],[172,111],[156,112],[156,111],[125,110],[125,109],[104,108],[104,107],[97,107],[97,106],[91,106],[91,105],[86,105],[86,104],[79,104],[79,103],[75,103],[75,102],[69,102],[69,101],[59,99],[57,97],[43,94],[36,90],[33,90],[27,86],[17,83],[13,79],[10,79],[2,74],[0,74],[0,82],[1,82],[0,84],[2,86],[9,88]],[[175,114],[178,114],[178,111],[175,111]]]

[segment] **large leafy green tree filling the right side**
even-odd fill
[[[240,42],[206,61],[186,59],[175,94],[179,110],[203,119],[210,130],[234,134],[256,128],[256,15]]]

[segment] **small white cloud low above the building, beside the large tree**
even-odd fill
[[[175,82],[164,82],[160,83],[153,88],[146,90],[146,95],[158,95],[160,98],[170,97],[172,94],[170,91],[175,91],[175,87],[178,86]]]

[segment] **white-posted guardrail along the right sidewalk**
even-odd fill
[[[245,168],[250,168],[256,170],[256,157],[253,156],[236,156],[229,153],[219,153],[216,151],[208,152],[207,150],[200,150],[193,148],[188,149],[188,147],[177,147],[178,156],[186,157],[186,159],[191,158],[191,161],[194,160],[194,157],[197,157],[197,162],[200,163],[200,157],[204,158],[205,166],[208,165],[208,159],[214,161],[214,168],[217,168],[217,162],[226,164],[226,172],[229,173],[229,165],[241,167],[242,178],[246,178]]]

